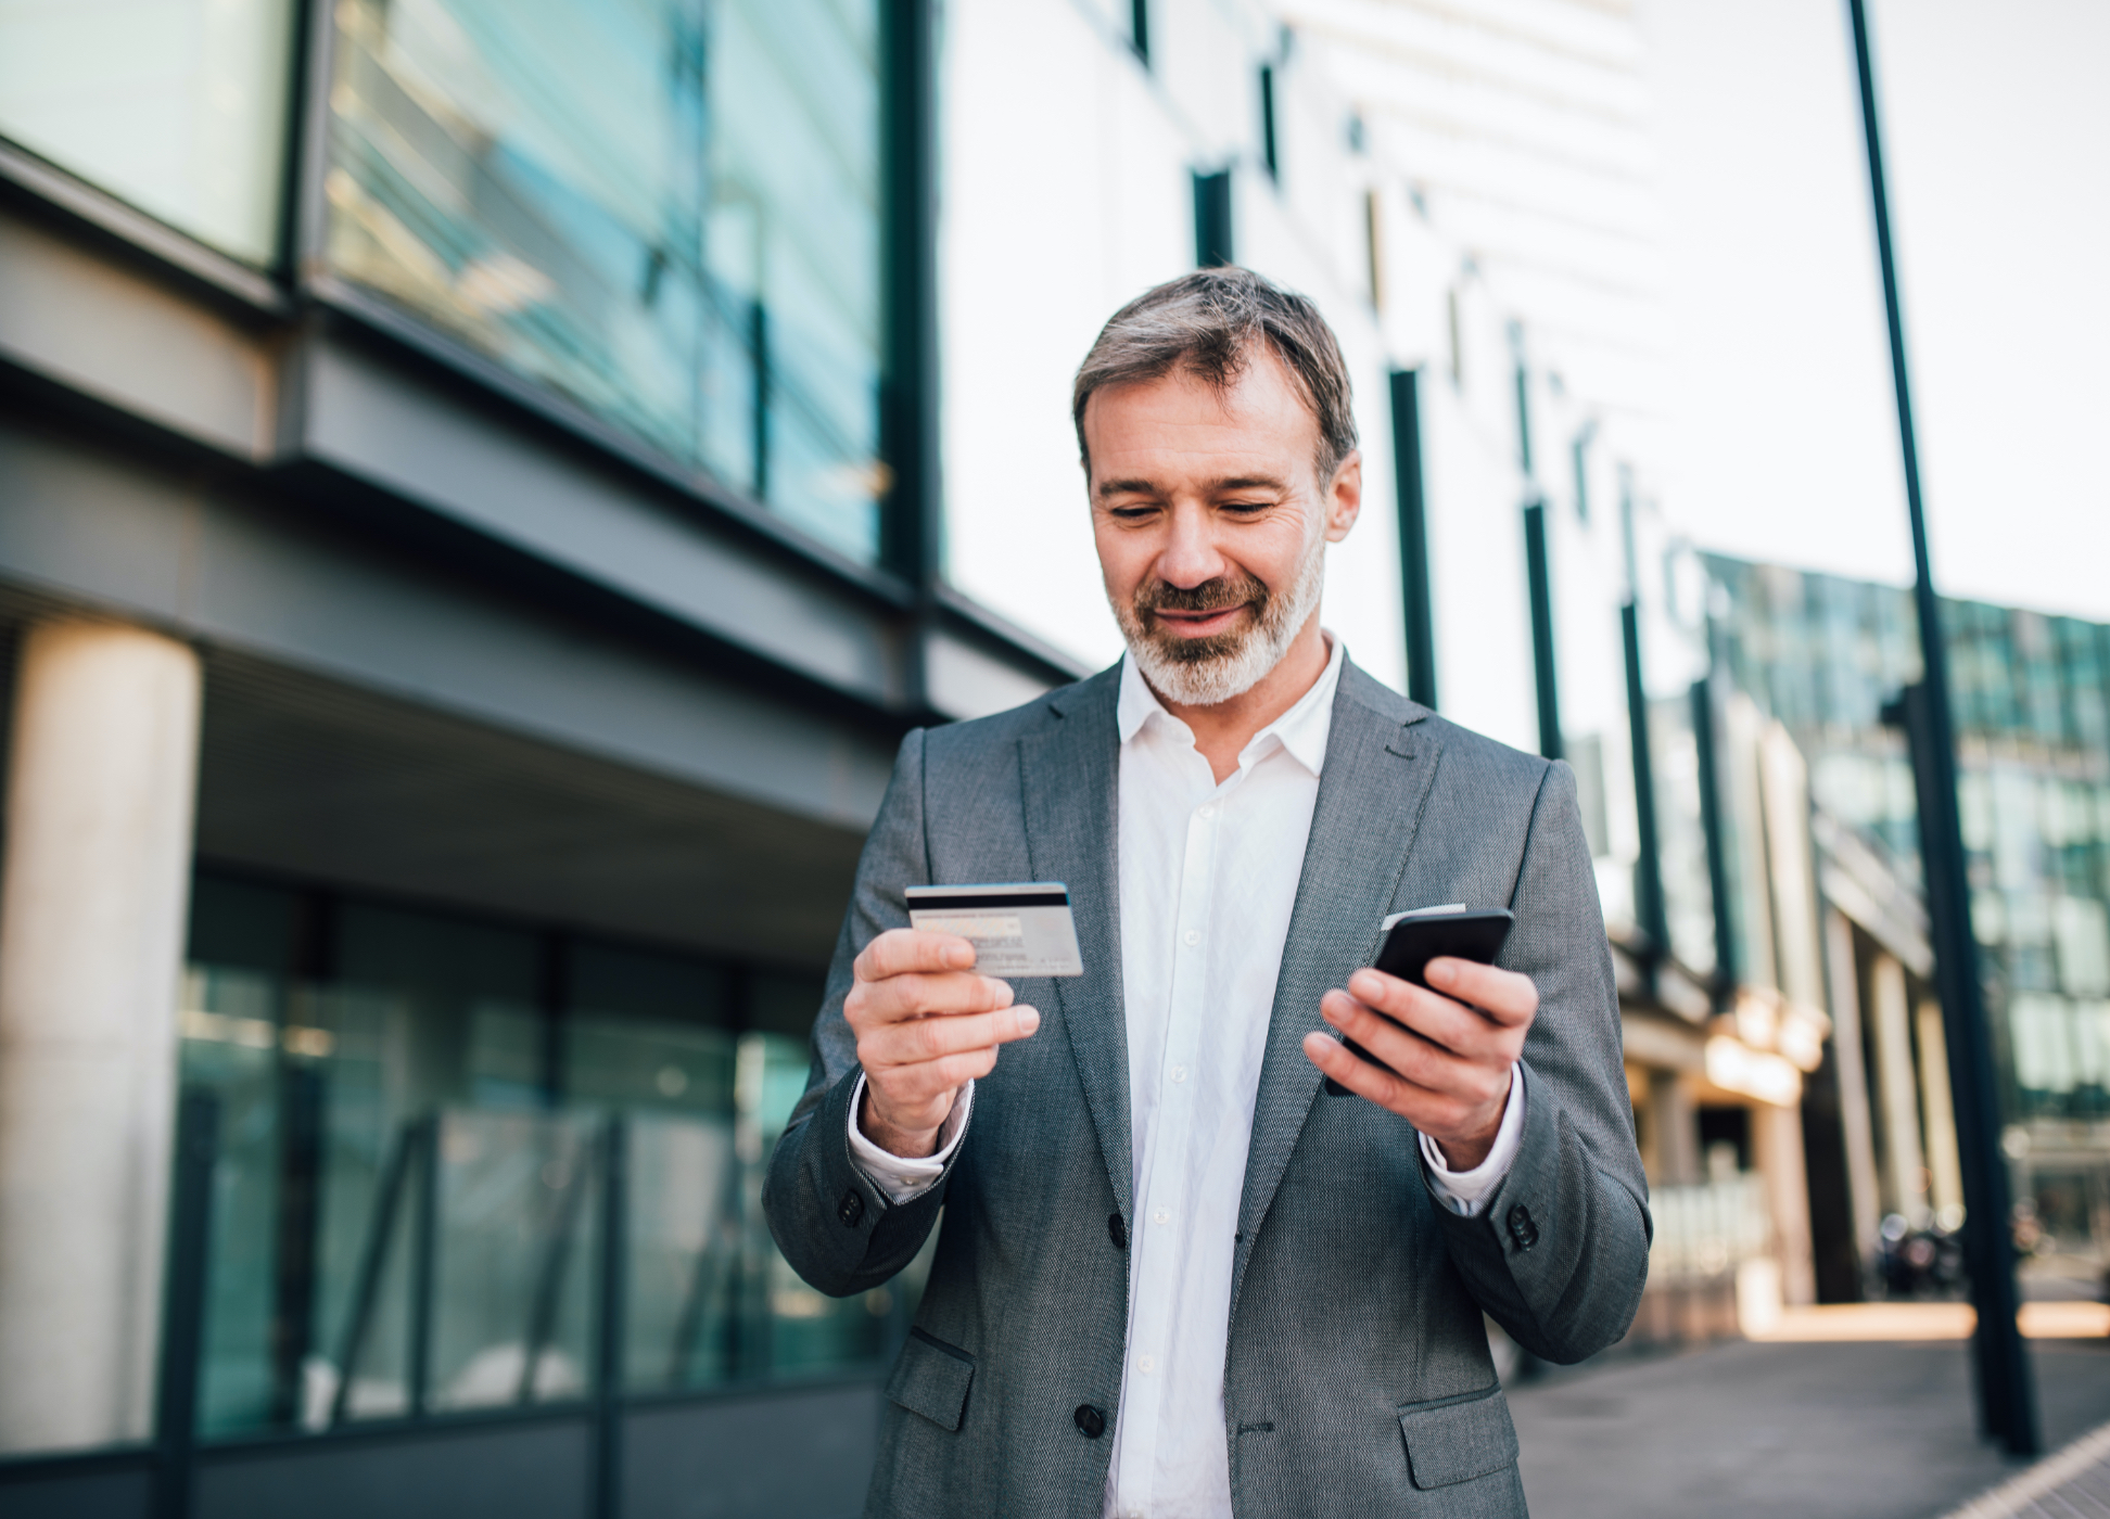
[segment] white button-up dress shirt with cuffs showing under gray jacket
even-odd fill
[[[1192,730],[1135,660],[1120,671],[1120,975],[1129,1034],[1129,1335],[1106,1515],[1230,1519],[1224,1348],[1245,1156],[1274,979],[1334,726],[1342,643],[1312,688],[1239,753],[1217,785]],[[1376,924],[1372,924],[1376,930]],[[859,1078],[863,1080],[863,1078]],[[1450,1171],[1422,1137],[1431,1186],[1475,1213],[1523,1129],[1521,1068],[1485,1162]],[[850,1154],[897,1203],[937,1181],[966,1133],[964,1091],[928,1160],[857,1129]]]

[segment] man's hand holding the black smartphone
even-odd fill
[[[1452,1171],[1471,1171],[1494,1148],[1538,987],[1515,970],[1450,956],[1431,960],[1424,989],[1382,970],[1357,970],[1319,1011],[1372,1059],[1357,1059],[1317,1030],[1304,1036],[1312,1065],[1348,1091],[1395,1112],[1443,1150]]]

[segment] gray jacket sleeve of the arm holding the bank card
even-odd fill
[[[895,778],[857,861],[850,909],[836,937],[827,996],[812,1023],[812,1068],[791,1122],[770,1156],[762,1211],[776,1249],[808,1285],[831,1297],[869,1291],[909,1264],[937,1211],[962,1146],[945,1175],[907,1203],[886,1194],[850,1158],[850,1095],[857,1091],[857,1036],[842,1017],[850,964],[888,928],[907,928],[903,886],[931,880],[924,844],[924,732],[901,741]],[[968,1118],[973,1122],[973,1118]]]

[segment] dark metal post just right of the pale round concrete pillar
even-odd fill
[[[219,1097],[188,1087],[175,1110],[169,1262],[160,1300],[160,1369],[154,1388],[154,1519],[188,1519],[198,1441],[198,1363],[205,1357],[205,1287],[213,1245],[213,1167]]]

